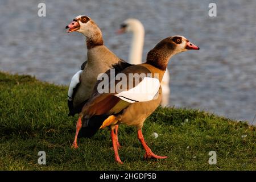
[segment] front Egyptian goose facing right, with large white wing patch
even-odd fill
[[[160,41],[147,53],[146,63],[127,65],[120,62],[119,64],[115,64],[113,68],[115,75],[125,75],[127,80],[122,82],[122,86],[119,85],[119,90],[116,89],[121,79],[117,79],[117,77],[111,79],[113,69],[110,69],[106,72],[108,78],[110,77],[108,84],[99,86],[101,82],[97,82],[92,97],[85,103],[79,114],[77,122],[79,127],[76,130],[75,141],[80,130],[79,137],[92,137],[97,130],[109,126],[111,129],[115,160],[122,164],[118,155],[115,125],[121,123],[129,126],[133,125],[137,127],[138,139],[146,151],[144,158],[167,158],[167,156],[155,155],[150,150],[144,141],[142,126],[145,119],[160,104],[162,98],[160,82],[166,71],[168,61],[175,54],[187,51],[188,49],[199,50],[199,47],[189,42],[183,36],[172,36]],[[142,77],[139,80],[134,80],[133,77],[130,78],[128,76],[131,73],[133,76],[137,73],[137,75],[142,75]],[[113,82],[115,86],[114,92]],[[127,86],[128,84],[129,88]],[[102,90],[105,91],[102,92]]]

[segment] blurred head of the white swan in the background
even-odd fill
[[[126,19],[121,25],[117,34],[123,34],[125,32],[136,32],[136,31],[143,31],[144,28],[142,23],[138,19],[129,18]]]

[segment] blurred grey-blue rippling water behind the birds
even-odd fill
[[[46,17],[38,3],[46,3]],[[209,3],[217,16],[208,15]],[[123,20],[137,18],[145,28],[143,60],[159,40],[183,35],[200,47],[174,56],[170,106],[207,110],[252,123],[256,114],[255,0],[1,0],[0,71],[34,75],[68,85],[86,60],[82,34],[65,33],[77,15],[101,28],[105,45],[124,60],[131,34],[116,35]],[[254,121],[255,124],[256,121]]]

